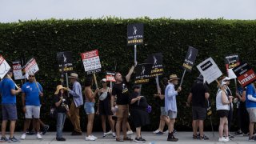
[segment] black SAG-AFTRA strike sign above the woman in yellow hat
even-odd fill
[[[72,53],[70,51],[58,52],[57,59],[60,72],[62,72],[62,68],[65,73],[73,71]]]

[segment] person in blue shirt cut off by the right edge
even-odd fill
[[[256,93],[253,83],[246,87],[246,110],[248,111],[250,124],[249,124],[249,141],[256,141],[254,136],[254,124],[256,122]]]

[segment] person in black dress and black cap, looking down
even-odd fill
[[[141,127],[150,124],[150,117],[146,111],[146,108],[149,106],[146,102],[146,98],[140,96],[140,86],[133,86],[134,92],[130,94],[129,103],[130,103],[130,117],[134,122],[136,127],[136,138],[135,142],[146,142],[142,138]]]

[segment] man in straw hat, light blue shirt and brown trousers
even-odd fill
[[[69,94],[72,95],[73,99],[70,105],[70,121],[74,126],[74,131],[71,135],[82,135],[82,130],[80,127],[80,115],[79,109],[83,104],[82,100],[82,87],[81,84],[78,82],[78,74],[71,73],[70,82],[73,84],[73,89],[67,89]]]

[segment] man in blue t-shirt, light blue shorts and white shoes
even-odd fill
[[[36,123],[36,132],[37,138],[42,139],[41,134],[39,134],[40,129],[40,97],[42,97],[42,86],[40,83],[35,81],[34,74],[29,74],[29,82],[26,82],[22,86],[22,110],[25,113],[25,122],[24,122],[24,133],[22,134],[21,139],[26,138],[26,130],[30,126],[30,121],[34,118]]]

